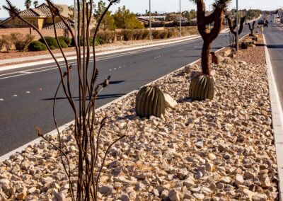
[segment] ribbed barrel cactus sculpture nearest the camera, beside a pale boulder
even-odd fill
[[[156,86],[144,86],[136,97],[136,113],[139,117],[161,117],[166,108],[163,92]]]

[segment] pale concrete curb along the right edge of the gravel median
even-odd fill
[[[279,177],[279,200],[283,200],[283,113],[275,81],[275,76],[272,70],[272,64],[270,61],[270,54],[267,49],[265,35],[263,35],[263,40],[265,43],[265,59],[267,63],[267,76],[268,85],[270,88],[270,102],[272,109],[272,127],[274,130],[275,148],[277,156],[277,169]]]

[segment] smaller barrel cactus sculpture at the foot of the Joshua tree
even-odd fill
[[[190,96],[192,97],[192,101],[213,99],[213,79],[207,75],[200,75],[192,78],[192,82],[190,84]]]

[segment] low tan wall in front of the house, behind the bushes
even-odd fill
[[[35,36],[35,40],[40,39],[40,35],[32,28],[0,28],[0,35],[10,35],[11,33],[23,33],[23,34],[30,33],[31,35]],[[52,37],[55,36],[54,30],[40,30],[40,33],[42,33],[43,36],[52,36]],[[64,35],[64,29],[58,29],[57,35],[58,36]],[[71,35],[69,34],[69,37],[70,36]]]

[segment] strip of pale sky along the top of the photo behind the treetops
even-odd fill
[[[44,0],[37,0],[40,3],[44,2]],[[71,5],[74,3],[74,0],[53,0],[55,4],[68,4]],[[96,2],[98,0],[95,0]],[[0,0],[0,6],[2,7],[5,4],[5,0]],[[16,4],[18,8],[24,9],[24,0],[11,0],[13,4]],[[207,9],[209,8],[209,4],[212,4],[214,0],[206,0]],[[238,0],[239,8],[259,8],[265,10],[277,9],[279,6],[283,8],[282,0]],[[149,10],[149,0],[120,0],[120,4],[112,7],[112,11],[116,11],[118,6],[125,5],[134,13],[144,13],[145,10]],[[188,0],[181,0],[182,10],[195,9],[196,6],[191,4]],[[233,0],[231,3],[231,8],[236,7],[236,0]],[[151,0],[151,11],[166,11],[173,12],[179,11],[179,0]],[[7,17],[8,13],[1,9],[0,18]]]

